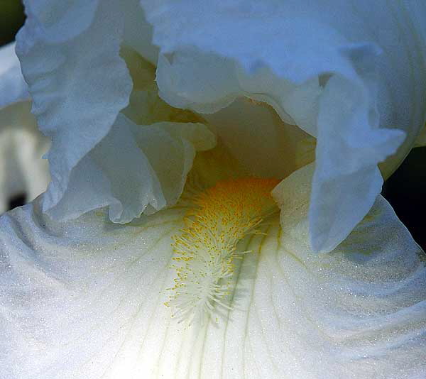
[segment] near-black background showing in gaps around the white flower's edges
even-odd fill
[[[89,0],[88,0],[89,1]],[[0,0],[0,46],[13,40],[25,16],[20,0]],[[0,62],[1,65],[1,62]],[[415,148],[383,186],[396,214],[426,250],[426,148]],[[21,205],[13,199],[13,206]]]

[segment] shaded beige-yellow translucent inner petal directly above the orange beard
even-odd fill
[[[236,99],[203,116],[251,175],[283,178],[315,160],[315,138],[283,122],[265,103]]]

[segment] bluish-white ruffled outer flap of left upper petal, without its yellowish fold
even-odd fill
[[[53,141],[48,154],[52,182],[43,203],[48,211],[62,206],[68,186],[73,185],[73,170],[84,165],[81,160],[107,136],[119,111],[129,104],[132,81],[119,55],[121,45],[151,59],[155,48],[143,40],[150,38],[150,27],[143,22],[137,1],[126,6],[116,1],[26,1],[26,13],[17,51],[33,97],[33,113],[40,130]],[[83,203],[99,202],[80,200],[82,212]],[[72,205],[62,212],[64,216],[76,214]]]

